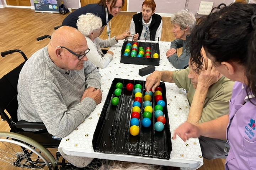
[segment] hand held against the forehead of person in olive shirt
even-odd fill
[[[203,63],[202,71],[198,76],[197,85],[209,88],[211,85],[216,83],[222,77],[222,74],[220,74],[212,66],[212,61],[209,60],[208,58],[203,59],[203,62],[204,63]],[[207,65],[207,67],[206,67],[206,65]]]

